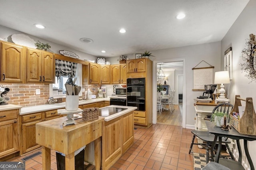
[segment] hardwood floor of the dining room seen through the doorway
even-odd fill
[[[174,105],[172,113],[170,109],[163,110],[161,114],[157,111],[157,123],[182,126],[182,102],[179,105]]]

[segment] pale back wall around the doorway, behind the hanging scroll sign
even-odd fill
[[[186,127],[194,127],[194,99],[202,96],[202,92],[192,91],[193,89],[193,70],[202,60],[214,66],[213,71],[220,71],[220,42],[192,45],[179,48],[162,49],[150,51],[153,60],[186,58]],[[207,65],[200,65],[204,67]]]

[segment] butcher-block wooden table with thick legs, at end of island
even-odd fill
[[[66,116],[36,123],[36,143],[42,145],[43,170],[51,169],[51,149],[64,153],[66,170],[74,170],[74,152],[92,141],[94,141],[95,168],[100,170],[104,117],[93,121],[76,119],[76,125],[63,127],[62,122],[65,120]]]

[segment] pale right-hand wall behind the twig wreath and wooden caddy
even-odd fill
[[[246,8],[234,22],[230,30],[226,33],[225,37],[221,41],[221,70],[224,70],[224,51],[229,47],[232,47],[233,58],[233,79],[230,82],[230,88],[228,90],[228,98],[234,103],[235,95],[240,95],[242,98],[252,97],[254,110],[256,106],[256,92],[255,83],[245,77],[245,72],[241,71],[240,63],[242,61],[242,49],[245,48],[246,39],[249,38],[249,34],[256,34],[256,1],[250,0]],[[242,106],[245,106],[245,102],[241,102]],[[249,153],[254,164],[256,166],[256,141],[248,143]],[[247,163],[245,154],[243,153],[243,161]]]

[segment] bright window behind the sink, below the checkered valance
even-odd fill
[[[82,64],[77,64],[77,68],[76,68],[76,76],[74,78],[76,78],[76,85],[78,86],[82,86]],[[72,78],[74,80],[74,78]],[[66,97],[66,87],[65,87],[65,83],[68,80],[68,76],[60,76],[60,79],[57,81],[58,77],[55,76],[55,84],[50,84],[49,85],[49,92],[50,92],[50,97],[54,97],[54,98],[65,98]],[[62,94],[56,94],[54,93],[54,90],[57,89],[62,89],[63,92]],[[79,93],[79,96],[82,96],[82,90]]]

